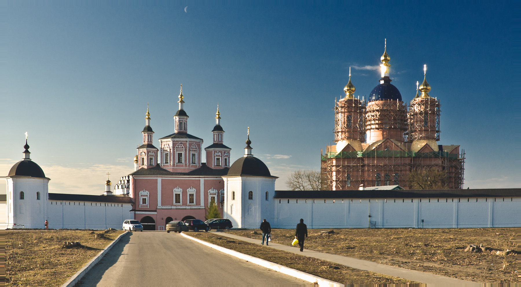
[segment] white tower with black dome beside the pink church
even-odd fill
[[[223,176],[225,182],[224,218],[231,220],[237,228],[258,228],[266,218],[272,221],[275,180],[262,160],[252,154],[250,128],[246,140],[245,154],[235,160]]]

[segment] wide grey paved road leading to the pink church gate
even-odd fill
[[[310,285],[178,233],[129,232],[79,286]]]

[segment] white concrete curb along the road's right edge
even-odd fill
[[[214,249],[216,249],[216,250],[218,250],[220,252],[224,252],[226,254],[229,254],[229,255],[232,255],[232,256],[235,256],[235,257],[238,257],[238,258],[250,261],[251,263],[254,263],[254,264],[257,264],[257,265],[269,268],[269,269],[273,269],[275,271],[287,274],[289,276],[293,276],[295,278],[299,278],[299,279],[302,279],[302,280],[305,280],[305,281],[308,281],[308,282],[311,282],[311,283],[317,283],[319,286],[345,286],[344,284],[340,284],[338,282],[334,282],[334,281],[327,280],[327,279],[324,279],[324,278],[321,278],[321,277],[318,277],[318,276],[314,276],[312,274],[309,274],[309,273],[306,273],[306,272],[302,272],[302,271],[299,271],[299,270],[295,270],[295,269],[292,269],[292,268],[289,268],[289,267],[286,267],[286,266],[282,266],[280,264],[272,263],[272,262],[270,262],[268,260],[264,260],[264,259],[261,259],[261,258],[253,257],[253,256],[250,256],[250,255],[246,255],[246,254],[237,252],[237,251],[233,251],[233,250],[225,248],[225,247],[221,247],[221,246],[218,246],[218,245],[215,245],[215,244],[212,244],[212,243],[208,243],[206,241],[202,241],[202,240],[193,238],[192,236],[186,235],[184,233],[181,233],[181,235],[184,236],[185,238],[188,238],[188,239],[191,239],[193,241],[199,242],[199,243],[204,244],[204,245],[206,245],[208,247],[212,247],[212,248],[214,248]]]

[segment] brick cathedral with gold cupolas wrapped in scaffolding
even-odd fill
[[[431,97],[426,79],[408,104],[391,84],[387,47],[380,58],[380,84],[367,99],[354,97],[355,86],[334,106],[334,142],[321,156],[326,190],[356,190],[368,186],[400,185],[409,189],[408,174],[435,168],[446,173],[449,189],[462,189],[465,153],[459,145],[438,145],[440,101]],[[325,179],[325,178],[324,178]]]

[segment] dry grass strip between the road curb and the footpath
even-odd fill
[[[187,233],[197,239],[204,240],[240,253],[262,258],[283,266],[291,267],[315,276],[336,281],[343,284],[408,284],[414,283],[401,278],[394,278],[383,274],[353,269],[320,260],[312,257],[267,248],[257,244],[234,240],[215,233],[190,232]],[[419,284],[408,284],[408,286],[419,286]]]

